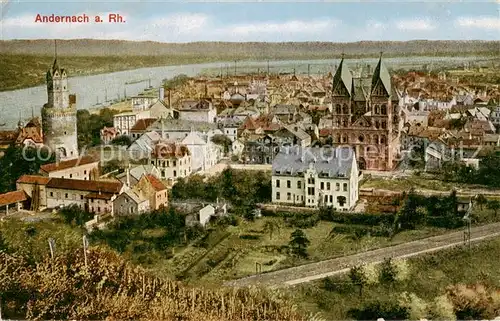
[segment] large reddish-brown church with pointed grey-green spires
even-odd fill
[[[351,146],[360,170],[392,170],[400,150],[399,97],[382,55],[371,77],[353,77],[344,57],[332,82],[332,141]]]

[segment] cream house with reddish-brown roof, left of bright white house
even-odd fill
[[[159,141],[151,153],[150,164],[160,171],[160,178],[172,186],[179,178],[191,175],[191,152],[186,145]]]

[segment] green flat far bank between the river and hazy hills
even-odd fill
[[[374,58],[372,53],[350,54],[350,59]],[[397,54],[387,52],[386,58],[408,58],[408,57],[452,57],[452,53],[405,53]],[[471,52],[460,54],[462,57],[495,57],[490,52]],[[140,56],[77,56],[63,55],[58,57],[58,61],[66,68],[70,77],[99,75],[117,71],[126,71],[139,68],[176,66],[186,64],[200,64],[210,62],[231,62],[238,60],[241,63],[249,61],[271,62],[282,60],[325,60],[340,58],[336,52],[310,52],[307,56],[303,53],[273,54],[269,57],[255,57],[250,53],[224,53],[200,56],[197,53],[181,55],[140,55]],[[53,63],[54,57],[51,55],[26,55],[26,54],[0,54],[0,92],[16,89],[23,89],[45,84],[45,74],[49,66]]]

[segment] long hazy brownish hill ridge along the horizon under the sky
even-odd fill
[[[75,39],[58,40],[58,54],[63,56],[192,56],[246,58],[327,58],[347,55],[378,55],[380,51],[390,56],[445,55],[491,53],[500,54],[500,41],[360,41],[332,42],[192,42],[160,43],[152,41],[122,41]],[[53,40],[4,40],[0,41],[0,54],[53,55]]]

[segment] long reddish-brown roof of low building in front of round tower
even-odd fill
[[[120,181],[116,181],[116,182],[85,181],[85,180],[81,180],[81,179],[68,179],[68,178],[53,177],[47,183],[47,187],[75,190],[75,191],[118,194],[122,188],[122,183]]]

